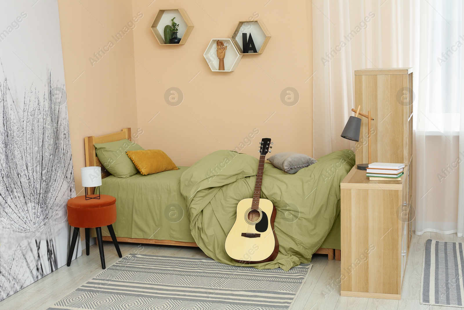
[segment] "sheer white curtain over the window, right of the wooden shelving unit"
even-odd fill
[[[458,232],[462,236],[464,204],[458,204],[460,106],[463,89],[464,32],[460,0],[420,1],[418,29],[419,92],[415,101],[415,206],[417,234]],[[463,128],[464,129],[464,128]],[[464,151],[464,150],[463,150]],[[459,178],[459,175],[463,177]],[[460,200],[464,191],[461,190]],[[458,213],[460,220],[458,221]]]

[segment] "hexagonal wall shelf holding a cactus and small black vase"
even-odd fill
[[[175,17],[175,22],[179,24],[178,37],[182,38],[179,44],[166,44],[164,43],[164,26],[171,25],[171,19]],[[181,45],[187,42],[188,36],[192,32],[193,23],[184,9],[166,9],[159,10],[156,14],[155,20],[151,25],[151,31],[155,34],[156,40],[161,45]]]

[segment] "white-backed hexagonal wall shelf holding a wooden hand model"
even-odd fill
[[[225,70],[219,70],[219,58],[216,53],[217,40],[224,42],[224,45],[227,46],[226,57],[224,57]],[[234,71],[235,68],[237,68],[238,63],[240,62],[240,59],[242,59],[242,55],[238,53],[231,39],[211,39],[211,42],[209,42],[209,45],[206,48],[206,51],[203,54],[203,56],[205,57],[208,66],[211,68],[211,71],[214,72]]]

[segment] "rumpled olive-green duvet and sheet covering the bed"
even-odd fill
[[[340,182],[353,165],[348,150],[323,156],[296,174],[264,165],[261,198],[277,207],[280,249],[274,262],[255,267],[288,270],[309,262],[319,247],[340,249]],[[257,167],[258,159],[223,150],[176,171],[110,176],[100,191],[116,197],[116,236],[196,242],[209,257],[237,264],[224,243],[238,201],[252,197]]]

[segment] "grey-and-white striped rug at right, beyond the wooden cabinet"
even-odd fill
[[[428,239],[420,303],[464,308],[463,267],[462,243]]]

